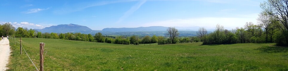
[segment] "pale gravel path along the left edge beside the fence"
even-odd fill
[[[9,40],[4,38],[0,41],[0,71],[6,70],[6,64],[10,56]]]

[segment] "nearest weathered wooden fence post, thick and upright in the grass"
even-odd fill
[[[44,57],[43,57],[43,53],[44,53],[44,46],[45,46],[45,43],[40,43],[40,71],[44,71]]]

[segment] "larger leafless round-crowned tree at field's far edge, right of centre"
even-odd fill
[[[179,36],[178,30],[175,27],[169,27],[167,28],[167,32],[167,35],[169,36],[169,39],[171,39],[172,43],[176,43],[175,38]]]

